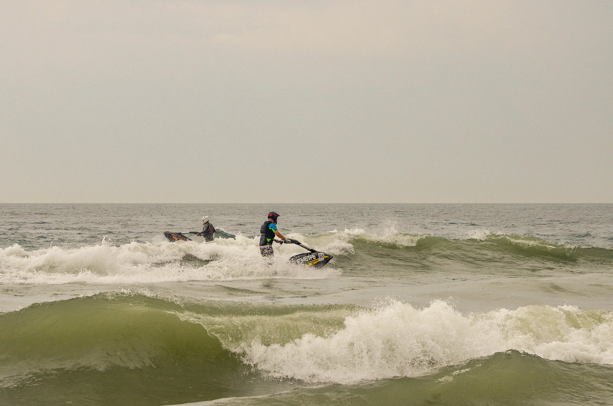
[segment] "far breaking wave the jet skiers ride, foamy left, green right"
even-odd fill
[[[261,278],[317,279],[338,277],[343,270],[360,266],[371,272],[386,270],[385,261],[397,261],[391,272],[414,266],[431,270],[468,264],[474,269],[509,269],[556,266],[581,262],[596,271],[610,270],[613,250],[571,247],[532,236],[482,234],[467,239],[389,232],[377,236],[363,230],[325,234],[290,234],[307,245],[335,256],[329,266],[310,269],[294,266],[287,259],[304,250],[295,245],[275,247],[275,262],[267,264],[259,254],[257,239],[237,236],[213,243],[131,242],[112,245],[102,240],[77,248],[48,247],[26,250],[15,244],[0,248],[0,283],[156,283],[189,280],[234,280]],[[446,262],[441,262],[444,260]]]

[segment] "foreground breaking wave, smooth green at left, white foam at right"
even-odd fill
[[[528,306],[464,315],[442,301],[251,305],[124,292],[0,314],[0,342],[0,388],[50,373],[171,366],[175,378],[196,369],[223,387],[216,374],[347,385],[431,375],[509,350],[610,365],[613,313]]]

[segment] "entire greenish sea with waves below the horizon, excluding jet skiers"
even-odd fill
[[[611,405],[612,274],[613,204],[0,204],[0,405]]]

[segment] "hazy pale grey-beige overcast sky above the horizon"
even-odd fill
[[[612,203],[613,2],[5,1],[2,203]]]

